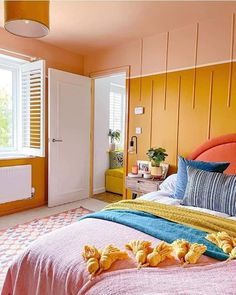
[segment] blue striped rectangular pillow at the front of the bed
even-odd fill
[[[236,216],[236,175],[187,167],[188,183],[183,205]]]

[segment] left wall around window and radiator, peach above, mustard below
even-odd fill
[[[83,57],[81,55],[62,50],[39,40],[13,36],[3,29],[0,29],[0,40],[1,48],[45,59],[47,67],[83,74]],[[0,50],[0,53],[4,52]],[[0,167],[22,164],[32,165],[32,184],[36,194],[29,200],[0,204],[0,216],[38,207],[47,202],[47,156],[45,158],[0,160]]]

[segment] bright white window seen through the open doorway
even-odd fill
[[[119,146],[124,147],[124,114],[125,88],[118,84],[110,84],[109,129],[119,130],[121,139]]]

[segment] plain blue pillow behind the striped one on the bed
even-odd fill
[[[183,157],[178,157],[178,173],[173,197],[182,200],[185,194],[186,186],[188,183],[187,166],[192,168],[208,171],[208,172],[224,172],[230,163],[226,162],[203,162],[186,160]]]

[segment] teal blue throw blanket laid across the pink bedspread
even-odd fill
[[[220,248],[205,239],[206,232],[149,213],[133,210],[111,210],[88,214],[80,220],[85,218],[97,218],[120,223],[168,243],[177,239],[185,239],[191,243],[204,244],[207,246],[205,252],[207,256],[218,260],[226,260],[229,257]],[[132,240],[132,237],[130,238]]]

